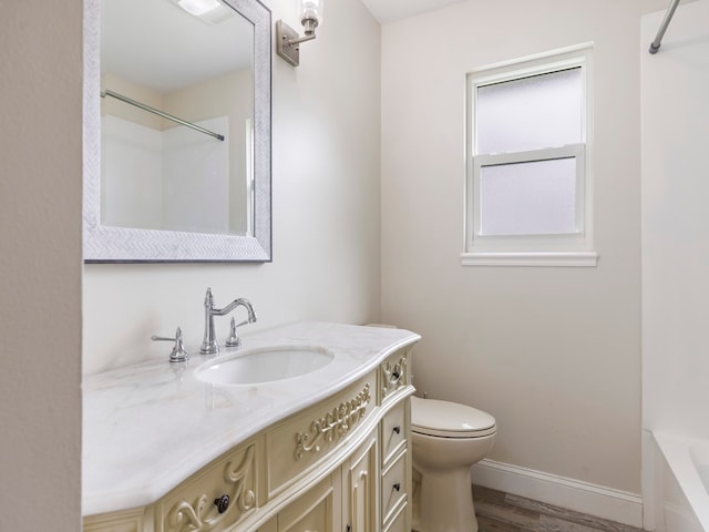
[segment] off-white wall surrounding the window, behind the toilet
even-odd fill
[[[636,494],[650,4],[469,1],[382,28],[381,318],[423,336],[417,388],[495,416],[494,461]],[[588,41],[598,266],[462,267],[465,73]]]

